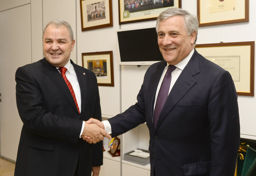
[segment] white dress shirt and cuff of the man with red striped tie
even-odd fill
[[[70,59],[68,60],[68,63],[64,67],[67,68],[66,77],[67,77],[68,81],[70,82],[70,84],[72,85],[72,88],[73,88],[73,90],[75,92],[75,95],[76,95],[77,104],[78,104],[79,110],[81,112],[81,91],[80,91],[80,86],[79,86],[79,83],[78,83],[78,79],[77,79],[77,74],[76,74],[75,68],[71,64]],[[56,67],[56,68],[59,69],[59,67]],[[60,73],[60,70],[58,70],[58,71]],[[82,135],[84,127],[85,127],[85,122],[83,121],[80,137]]]

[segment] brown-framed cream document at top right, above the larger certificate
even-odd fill
[[[249,21],[249,0],[197,0],[199,27]]]

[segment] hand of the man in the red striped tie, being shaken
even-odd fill
[[[103,130],[98,125],[93,123],[92,124],[85,123],[85,128],[83,129],[83,133],[82,133],[83,140],[85,140],[84,139],[85,136],[89,136],[91,140],[91,142],[89,143],[93,143],[93,144],[103,141],[104,136],[106,136],[109,140],[111,139],[111,136],[105,130]]]

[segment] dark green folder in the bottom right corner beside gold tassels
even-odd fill
[[[256,150],[247,145],[242,176],[256,176]]]

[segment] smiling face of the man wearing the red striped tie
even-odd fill
[[[71,41],[68,28],[60,26],[56,28],[49,25],[43,35],[43,55],[46,60],[55,67],[63,67],[68,63],[75,40]]]

